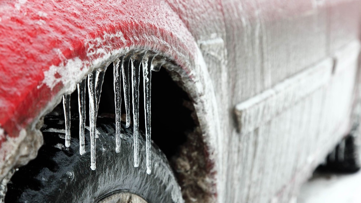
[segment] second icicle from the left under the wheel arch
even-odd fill
[[[79,152],[80,155],[83,155],[85,153],[85,142],[84,142],[84,128],[85,128],[85,120],[86,120],[86,114],[85,114],[85,91],[86,91],[86,81],[87,79],[84,79],[81,81],[78,86],[78,106],[79,106]]]

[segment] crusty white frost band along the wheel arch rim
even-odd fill
[[[45,107],[40,115],[45,115],[46,112],[50,111],[59,102],[59,97],[61,97],[63,94],[69,94],[73,92],[77,86],[77,83],[84,79],[93,70],[103,66],[105,63],[113,62],[124,54],[129,53],[130,50],[152,50],[152,52],[156,54],[161,51],[162,57],[166,58],[167,61],[177,62],[177,66],[168,62],[164,64],[164,67],[166,67],[168,70],[176,70],[176,72],[178,72],[180,78],[184,82],[184,86],[187,87],[187,89],[190,91],[189,93],[191,97],[196,101],[195,109],[197,112],[200,112],[199,120],[200,126],[203,129],[203,138],[208,146],[209,151],[212,151],[212,153],[209,155],[209,159],[216,163],[216,157],[222,156],[222,153],[215,152],[216,150],[222,151],[219,150],[219,148],[222,148],[222,146],[217,146],[216,143],[218,142],[216,140],[218,140],[218,137],[222,137],[222,135],[219,133],[220,128],[217,124],[219,123],[219,116],[216,110],[217,104],[213,91],[213,84],[209,78],[209,72],[198,46],[194,44],[194,46],[190,47],[190,50],[196,50],[195,55],[190,56],[187,53],[184,53],[183,49],[178,50],[175,47],[169,46],[166,41],[156,36],[145,39],[145,41],[147,41],[145,45],[135,44],[131,47],[123,47],[119,49],[113,49],[112,46],[106,43],[107,41],[112,40],[120,40],[123,41],[124,44],[130,42],[124,39],[121,32],[117,32],[117,34],[114,35],[104,33],[103,37],[85,40],[84,46],[87,50],[87,56],[89,58],[84,61],[78,60],[79,58],[66,59],[59,51],[59,56],[64,62],[58,66],[52,66],[52,68],[46,73],[48,75],[44,74],[45,77],[43,84],[52,89],[55,87],[55,85],[62,82],[64,87],[57,93],[55,97],[53,97],[53,100],[49,102],[47,107]],[[122,43],[120,42],[120,44]],[[164,49],[164,47],[168,47],[169,49]],[[76,63],[74,63],[74,61]],[[72,70],[77,72],[75,72],[73,75],[78,75],[80,76],[79,78],[72,77],[73,75],[70,75],[71,79],[68,79],[66,71],[63,69],[67,69],[67,67],[69,67],[69,63],[75,64]],[[161,63],[155,63],[152,65],[152,70],[155,66],[160,67],[159,65],[161,65]],[[59,75],[61,77],[59,77]],[[213,170],[217,171],[216,168],[218,168],[218,165],[215,166]],[[212,182],[215,181],[213,178],[213,176],[210,177],[210,180],[207,182],[212,184]]]

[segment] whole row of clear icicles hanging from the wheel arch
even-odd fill
[[[123,92],[126,109],[126,127],[130,126],[130,71],[132,84],[132,105],[133,105],[133,124],[134,124],[134,167],[139,166],[139,74],[140,65],[143,65],[143,84],[144,84],[144,112],[145,112],[145,137],[146,137],[146,164],[147,173],[151,174],[151,67],[154,56],[144,57],[145,53],[138,54],[138,59],[132,59],[130,56],[122,56],[113,62],[114,65],[114,93],[116,106],[116,152],[120,152],[121,137],[121,76],[123,79]],[[88,74],[87,79],[78,84],[78,103],[79,103],[79,145],[80,154],[85,153],[84,149],[84,128],[85,128],[85,97],[86,84],[88,84],[89,93],[89,121],[90,121],[90,147],[91,147],[91,165],[95,170],[95,147],[96,147],[96,117],[100,101],[101,87],[103,85],[106,68],[109,64]],[[87,83],[88,82],[88,83]],[[65,115],[65,146],[70,146],[70,94],[63,96],[63,106]]]

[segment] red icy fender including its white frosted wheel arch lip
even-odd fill
[[[39,118],[94,68],[130,50],[151,50],[181,67],[176,71],[195,101],[213,163],[210,183],[216,185],[219,126],[212,82],[195,40],[168,4],[3,1],[0,8],[0,125],[6,135],[0,137],[1,146],[22,129],[35,132]],[[4,159],[1,178],[10,170],[3,168]]]

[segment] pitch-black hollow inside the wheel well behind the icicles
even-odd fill
[[[142,69],[140,72],[142,73]],[[161,68],[158,72],[152,71],[151,95],[152,140],[160,147],[168,159],[177,154],[179,146],[187,140],[187,133],[192,132],[195,128],[192,108],[187,107],[192,102],[188,94],[171,78],[171,74],[165,68]],[[145,132],[142,74],[140,74],[139,90],[139,129]],[[88,95],[86,98],[88,98]],[[88,99],[86,102],[87,112],[89,112]],[[132,104],[130,106],[132,114]],[[125,113],[125,102],[122,94],[122,114],[123,112]],[[63,114],[62,103],[52,113]],[[79,114],[77,90],[71,94],[71,114]],[[113,63],[111,63],[105,72],[98,116],[114,117],[114,114]],[[88,118],[87,116],[86,125],[89,125]]]

